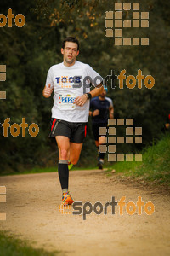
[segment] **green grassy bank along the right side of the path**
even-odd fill
[[[170,186],[170,134],[145,148],[142,162],[117,162],[113,168],[127,177]]]

